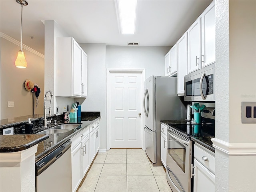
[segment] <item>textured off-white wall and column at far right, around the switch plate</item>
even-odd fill
[[[256,125],[241,104],[256,101],[256,1],[215,2],[216,191],[255,192]]]

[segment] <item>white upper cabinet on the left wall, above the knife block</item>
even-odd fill
[[[87,96],[87,55],[72,37],[56,38],[56,96]]]

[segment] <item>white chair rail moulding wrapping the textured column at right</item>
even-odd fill
[[[230,156],[256,155],[256,143],[229,143],[218,138],[212,138],[213,147]]]

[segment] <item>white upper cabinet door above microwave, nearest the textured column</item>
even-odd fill
[[[215,6],[212,2],[201,14],[202,67],[215,62]]]

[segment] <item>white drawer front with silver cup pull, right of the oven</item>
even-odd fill
[[[203,146],[194,145],[194,158],[215,174],[215,156]],[[203,160],[205,159],[205,160]],[[208,160],[208,161],[207,161]]]

